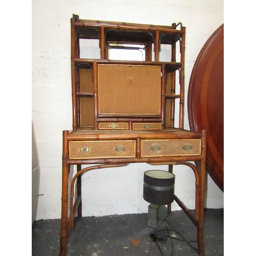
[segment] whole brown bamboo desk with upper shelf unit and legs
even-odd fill
[[[117,51],[122,59],[115,57]],[[81,175],[129,163],[166,164],[169,172],[174,165],[193,170],[196,214],[177,196],[175,200],[196,225],[199,254],[204,255],[206,131],[184,130],[184,56],[181,23],[71,18],[73,131],[63,131],[59,255],[66,255],[74,218],[82,217]],[[191,161],[200,162],[200,168]],[[82,168],[87,164],[93,166]],[[69,184],[71,165],[77,165],[77,173]]]

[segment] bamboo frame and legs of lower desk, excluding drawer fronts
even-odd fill
[[[88,134],[87,134],[88,133]],[[100,134],[94,134],[93,136],[89,135],[89,132],[87,132],[83,135],[80,135],[80,138],[78,135],[76,135],[74,132],[69,133],[68,131],[63,131],[63,156],[62,156],[62,211],[61,211],[61,250],[60,250],[60,256],[64,256],[66,254],[67,249],[67,238],[70,230],[73,228],[73,219],[78,212],[78,217],[81,217],[81,214],[79,214],[79,207],[81,207],[81,184],[79,180],[81,179],[81,175],[83,173],[88,172],[89,170],[95,170],[99,168],[108,168],[108,167],[121,167],[129,163],[149,163],[149,164],[168,164],[169,171],[172,172],[173,165],[186,165],[190,167],[195,175],[195,186],[196,186],[196,195],[195,195],[195,202],[196,202],[196,213],[195,216],[191,214],[189,209],[183,204],[183,202],[175,196],[174,199],[178,203],[178,205],[184,210],[185,214],[189,217],[189,219],[194,223],[194,225],[197,227],[198,230],[198,247],[199,247],[199,254],[204,255],[204,245],[203,245],[203,220],[204,220],[204,200],[205,200],[205,161],[206,161],[206,131],[202,131],[201,134],[193,134],[191,137],[197,136],[198,138],[202,139],[201,143],[201,155],[200,156],[174,156],[174,157],[141,157],[141,139],[150,139],[157,136],[157,132],[154,135],[148,135],[148,134],[136,134],[134,133],[133,137],[137,137],[136,139],[136,158],[130,158],[130,159],[87,159],[87,160],[70,160],[69,159],[69,149],[68,144],[69,141],[79,141],[87,139],[95,140],[102,140],[108,138],[111,140],[113,136],[110,134],[109,136],[104,136],[104,133]],[[102,136],[101,136],[102,135]],[[168,138],[168,137],[174,137],[173,135],[170,135],[168,133],[161,133],[159,131],[159,136],[162,138]],[[176,135],[176,138],[182,139],[182,135],[178,134]],[[185,137],[185,136],[184,136]],[[119,133],[118,137],[119,139],[131,139],[128,138],[124,133]],[[190,163],[190,161],[199,161],[200,162],[200,169],[196,167],[196,165]],[[96,164],[91,167],[86,167],[81,169],[81,164]],[[77,169],[77,173],[72,179],[71,185],[70,185],[70,217],[68,218],[68,187],[69,187],[69,166],[70,165],[78,165],[79,168]],[[77,179],[77,187],[78,187],[78,193],[77,198],[74,203],[74,184]],[[170,208],[169,208],[170,209]]]

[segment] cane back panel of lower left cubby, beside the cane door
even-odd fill
[[[94,126],[93,98],[80,98],[80,127]]]

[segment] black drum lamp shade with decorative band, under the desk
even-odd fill
[[[144,172],[143,198],[148,203],[166,205],[174,201],[175,175],[164,170]]]

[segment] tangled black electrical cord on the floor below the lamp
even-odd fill
[[[163,219],[161,219],[163,220]],[[181,241],[181,242],[185,242],[187,243],[192,249],[194,250],[198,250],[198,248],[194,247],[193,245],[191,245],[191,243],[196,243],[197,241],[187,241],[181,233],[179,233],[177,230],[175,229],[168,229],[168,226],[169,226],[169,223],[167,220],[163,220],[163,221],[166,221],[167,222],[167,226],[165,229],[160,229],[160,230],[157,230],[155,233],[151,233],[150,234],[150,239],[153,240],[154,242],[156,242],[159,250],[160,250],[160,253],[161,255],[163,256],[163,253],[162,253],[162,250],[158,244],[158,241],[167,241],[167,239],[169,238],[170,241],[172,242],[172,253],[170,254],[170,256],[173,256],[173,252],[174,252],[174,243],[173,243],[173,239],[176,239],[178,241]],[[166,231],[167,234],[157,234],[159,232],[163,232],[163,231]],[[177,236],[174,236],[174,235],[170,235],[169,232],[172,231],[172,232],[175,232],[177,233],[182,239],[178,238]]]

